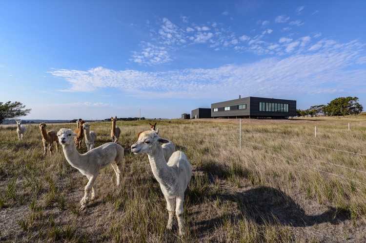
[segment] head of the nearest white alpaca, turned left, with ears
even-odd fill
[[[147,154],[153,150],[153,145],[161,142],[168,143],[169,140],[159,137],[159,135],[152,131],[145,131],[140,133],[136,143],[131,145],[131,152],[137,154]]]

